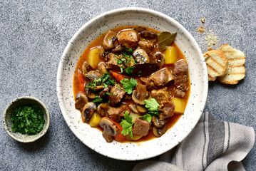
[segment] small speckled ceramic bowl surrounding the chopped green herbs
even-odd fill
[[[11,131],[11,114],[14,112],[16,108],[19,108],[19,106],[22,105],[39,105],[39,108],[41,108],[41,110],[43,111],[43,118],[44,120],[46,120],[46,122],[43,125],[43,130],[41,130],[39,134],[22,135],[21,133],[13,133]],[[11,138],[14,138],[14,140],[17,140],[19,142],[34,142],[35,140],[38,140],[44,134],[46,134],[50,125],[50,115],[48,109],[46,108],[46,105],[44,105],[43,102],[41,102],[41,100],[34,97],[24,96],[16,98],[15,100],[11,101],[9,105],[7,105],[6,109],[4,110],[3,123],[6,133],[8,133],[8,135],[10,135]]]

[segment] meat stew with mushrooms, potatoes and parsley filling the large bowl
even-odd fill
[[[173,35],[120,26],[96,38],[73,78],[82,122],[102,130],[107,142],[150,140],[170,129],[190,95],[188,63]]]

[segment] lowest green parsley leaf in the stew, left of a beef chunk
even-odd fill
[[[129,112],[126,111],[126,113],[123,115],[123,117],[125,118],[124,120],[122,120],[122,122],[120,123],[120,125],[122,126],[123,130],[121,132],[121,134],[123,135],[130,135],[130,138],[133,138],[133,124],[135,122],[133,122],[133,118],[128,114]]]

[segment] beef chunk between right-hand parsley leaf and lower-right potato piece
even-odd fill
[[[172,101],[162,101],[158,110],[160,110],[159,118],[164,120],[173,115],[175,109],[175,104]]]

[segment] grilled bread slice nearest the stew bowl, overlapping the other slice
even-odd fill
[[[227,56],[222,51],[213,50],[203,53],[208,68],[208,80],[215,81],[227,71]]]

